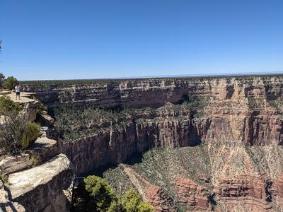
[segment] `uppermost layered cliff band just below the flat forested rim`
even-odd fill
[[[96,81],[88,83],[30,83],[23,91],[34,92],[50,107],[96,105],[100,107],[161,107],[178,102],[187,93],[217,95],[223,100],[238,95],[265,95],[274,99],[282,94],[283,76],[247,76],[223,78],[168,78]]]

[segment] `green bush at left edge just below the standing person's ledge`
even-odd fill
[[[0,115],[8,113],[17,114],[21,110],[23,110],[23,108],[18,102],[14,102],[6,95],[0,97]]]

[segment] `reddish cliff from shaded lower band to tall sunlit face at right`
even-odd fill
[[[280,109],[270,102],[270,98],[280,98],[281,81],[255,78],[249,81],[251,84],[240,84],[232,79],[229,82],[233,81],[233,86],[222,79],[209,90],[202,90],[205,107],[200,117],[195,117],[189,109],[166,104],[154,114],[127,117],[126,125],[120,128],[110,126],[98,134],[66,142],[62,151],[75,158],[76,170],[82,174],[103,165],[121,163],[129,155],[154,146],[174,148],[215,141],[243,146],[281,144],[283,117]]]

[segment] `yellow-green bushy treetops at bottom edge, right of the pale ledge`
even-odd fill
[[[83,186],[82,186],[83,185]],[[79,184],[74,199],[74,211],[153,212],[154,207],[142,201],[134,189],[116,196],[114,189],[97,176],[88,176]]]

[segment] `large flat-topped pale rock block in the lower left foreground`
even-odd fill
[[[8,176],[7,188],[13,201],[27,211],[67,211],[67,199],[62,190],[72,179],[70,162],[59,154],[46,163]]]

